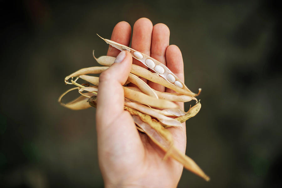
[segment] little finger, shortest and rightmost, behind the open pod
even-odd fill
[[[183,58],[180,49],[176,45],[170,45],[165,53],[166,66],[184,83]],[[165,92],[175,93],[175,91],[166,88]],[[177,102],[184,109],[184,103]]]

